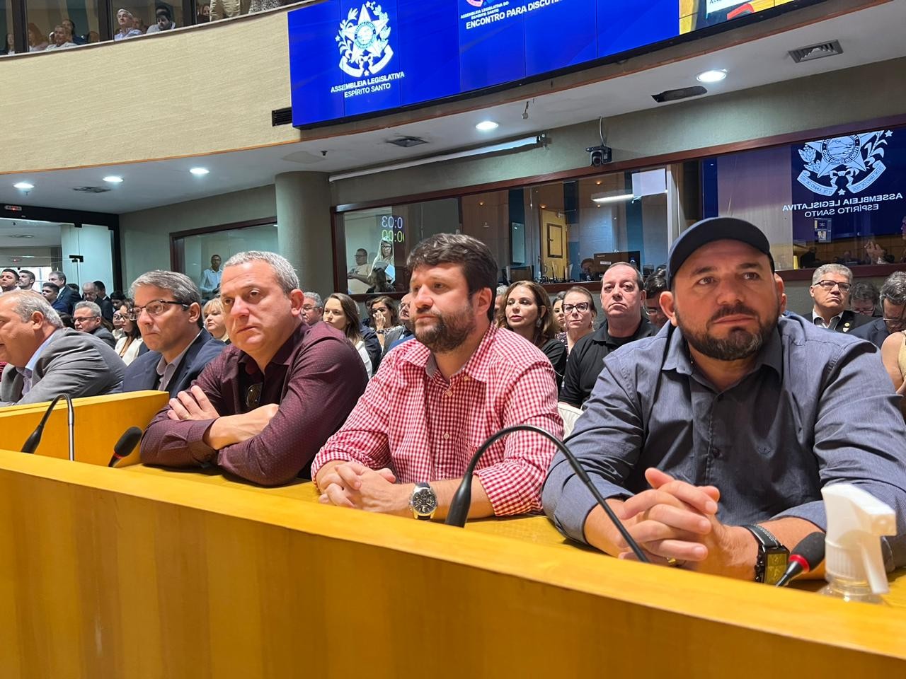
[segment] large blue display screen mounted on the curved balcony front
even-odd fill
[[[537,80],[815,1],[326,0],[288,14],[293,124],[313,127]]]

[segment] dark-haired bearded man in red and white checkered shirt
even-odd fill
[[[415,336],[390,351],[352,414],[312,464],[321,502],[443,518],[472,454],[506,426],[563,435],[554,368],[530,342],[496,329],[496,262],[460,234],[422,241],[407,263]],[[478,464],[468,515],[541,510],[554,445],[517,432]]]

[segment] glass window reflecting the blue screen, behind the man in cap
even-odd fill
[[[778,269],[906,261],[906,129],[873,129],[702,163],[706,216],[747,219]]]

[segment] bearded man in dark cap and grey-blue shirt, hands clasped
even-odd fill
[[[776,580],[845,481],[894,508],[883,553],[906,564],[906,426],[877,349],[781,318],[770,246],[740,219],[682,234],[667,283],[667,331],[604,359],[567,441],[651,561]],[[562,454],[543,503],[565,535],[631,554]]]

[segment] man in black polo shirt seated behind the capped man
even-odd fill
[[[645,292],[638,269],[618,262],[604,272],[601,283],[604,320],[597,331],[577,341],[570,352],[561,401],[581,407],[592,393],[607,354],[631,341],[656,334],[654,326],[642,318],[644,303]]]

